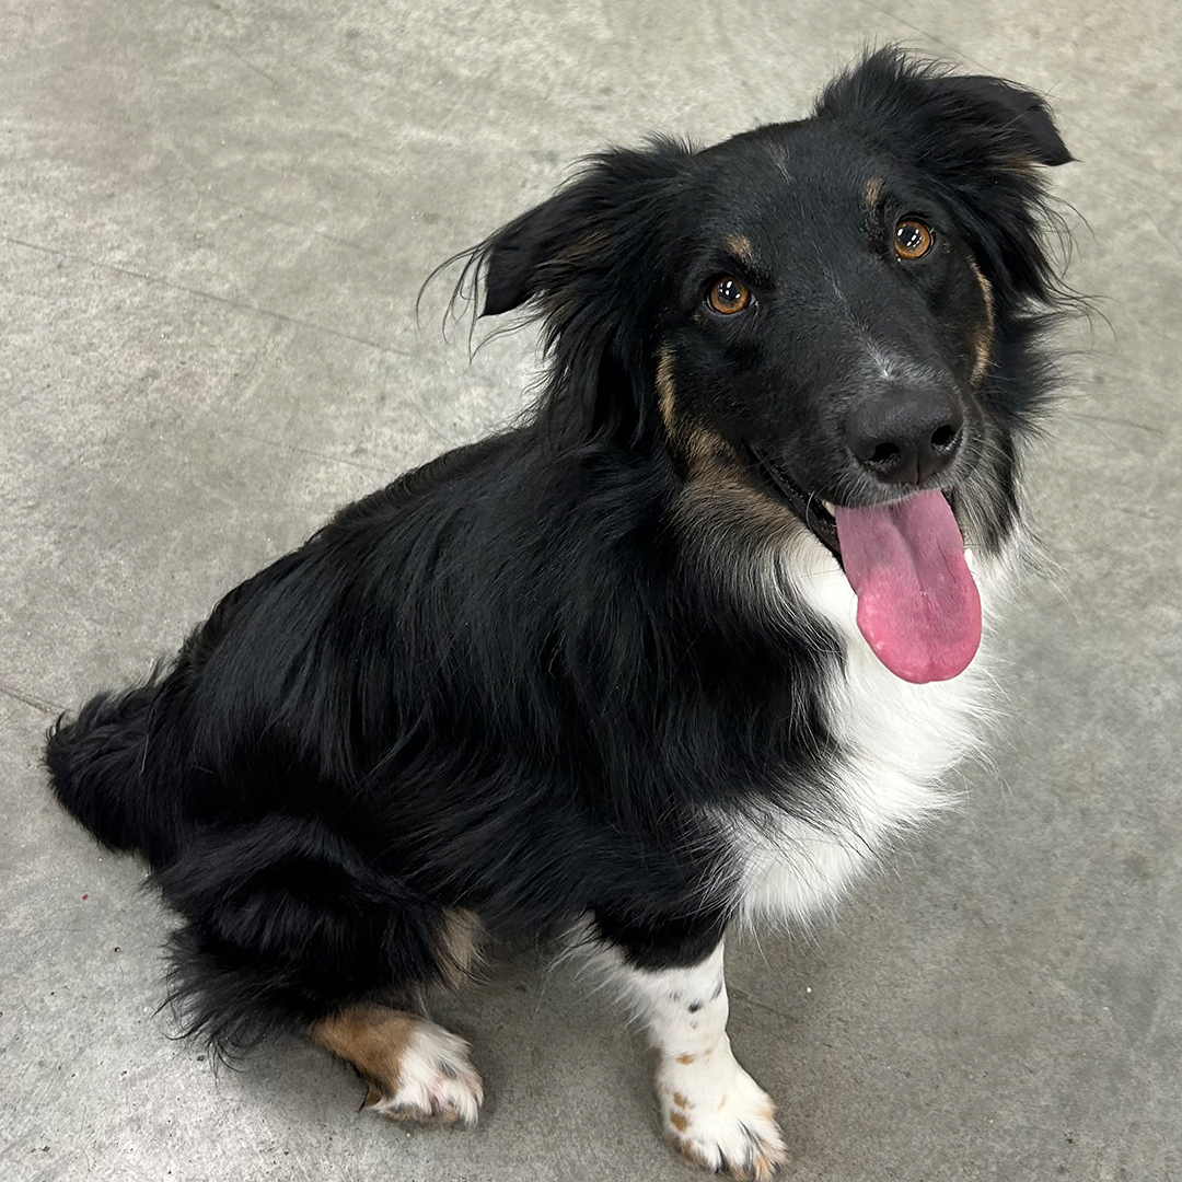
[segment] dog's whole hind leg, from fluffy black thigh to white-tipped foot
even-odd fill
[[[171,937],[171,996],[188,1033],[233,1053],[305,1031],[357,1069],[375,1111],[475,1123],[483,1091],[467,1044],[411,1012],[479,960],[470,911],[382,875],[314,818],[195,834],[156,882],[187,921]]]

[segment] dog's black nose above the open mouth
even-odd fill
[[[943,390],[892,385],[859,402],[845,439],[863,467],[888,485],[920,485],[946,468],[965,416]]]

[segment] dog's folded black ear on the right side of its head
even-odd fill
[[[889,46],[836,78],[817,103],[897,160],[921,169],[956,212],[1002,305],[1052,299],[1035,165],[1072,160],[1046,103],[985,76],[956,76]]]

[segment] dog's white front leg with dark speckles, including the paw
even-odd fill
[[[613,934],[615,936],[615,934]],[[787,1160],[775,1105],[739,1066],[727,1038],[722,941],[689,963],[676,948],[618,937],[602,963],[636,1007],[657,1048],[656,1087],[669,1142],[689,1161],[765,1182]]]

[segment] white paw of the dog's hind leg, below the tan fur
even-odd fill
[[[480,1076],[462,1038],[422,1022],[398,1061],[397,1078],[371,1083],[362,1105],[395,1121],[460,1123],[472,1128],[485,1100]]]

